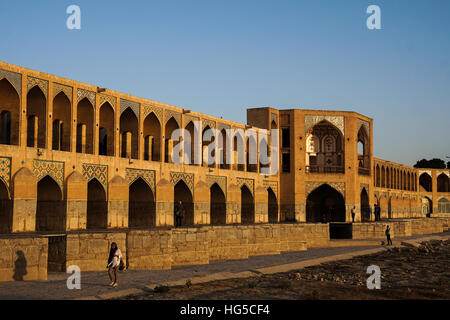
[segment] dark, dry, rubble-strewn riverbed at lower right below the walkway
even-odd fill
[[[381,269],[380,290],[367,288],[370,265]],[[433,240],[287,273],[160,286],[125,299],[450,299],[449,265],[450,241]]]

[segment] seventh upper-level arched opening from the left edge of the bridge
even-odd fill
[[[161,124],[151,112],[144,120],[144,160],[161,160]]]

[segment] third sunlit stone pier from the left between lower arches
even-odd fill
[[[128,228],[128,182],[115,176],[108,184],[108,228]]]

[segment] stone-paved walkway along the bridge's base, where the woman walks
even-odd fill
[[[433,235],[449,237],[450,232]],[[410,239],[394,239],[394,244]],[[412,239],[412,240],[411,240]],[[187,279],[192,283],[219,279],[254,276],[258,273],[285,272],[322,262],[348,259],[356,255],[385,250],[381,241],[333,240],[333,247],[312,248],[307,251],[287,252],[280,255],[256,256],[244,260],[213,261],[208,265],[174,267],[172,270],[128,270],[120,272],[119,286],[108,286],[107,271],[82,272],[81,289],[69,290],[66,286],[68,274],[49,273],[47,281],[0,282],[0,299],[108,299],[150,290],[157,284],[183,285]],[[342,244],[342,246],[339,246]]]

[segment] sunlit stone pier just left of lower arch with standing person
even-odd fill
[[[166,179],[156,185],[156,226],[173,226],[173,185]]]

